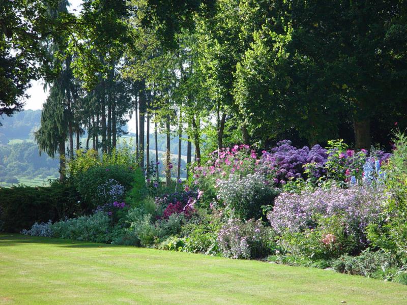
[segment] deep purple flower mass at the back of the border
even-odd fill
[[[271,152],[263,151],[260,164],[268,171],[267,173],[275,173],[274,182],[285,184],[289,179],[302,177],[304,165],[309,163],[314,163],[317,169],[313,175],[321,176],[325,173],[324,164],[327,158],[327,150],[319,145],[315,145],[311,149],[308,146],[296,148],[291,141],[282,140],[271,149]]]

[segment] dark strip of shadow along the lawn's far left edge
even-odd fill
[[[27,236],[20,234],[0,234],[0,248],[4,246],[23,246],[27,243],[41,243],[45,245],[55,245],[64,248],[111,248],[124,247],[121,245],[111,245],[107,243],[91,243],[86,241],[73,241],[70,239],[49,238],[38,236]],[[136,247],[135,247],[136,248]]]

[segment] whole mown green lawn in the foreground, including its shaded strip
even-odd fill
[[[0,235],[4,304],[406,304],[407,287],[333,271]]]

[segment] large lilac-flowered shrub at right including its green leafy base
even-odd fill
[[[289,253],[313,259],[358,254],[368,246],[365,229],[380,219],[384,199],[380,186],[283,193],[268,219]]]

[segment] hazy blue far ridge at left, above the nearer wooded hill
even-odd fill
[[[40,127],[41,110],[24,110],[13,116],[0,118],[0,143],[12,139],[33,139],[34,131]]]

